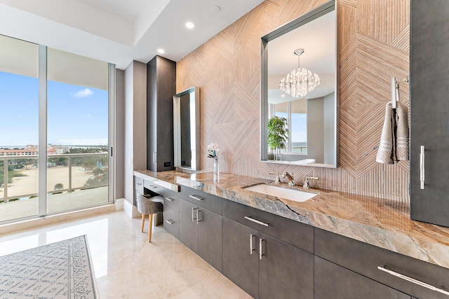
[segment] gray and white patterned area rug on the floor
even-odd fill
[[[98,298],[86,235],[1,256],[0,298]]]

